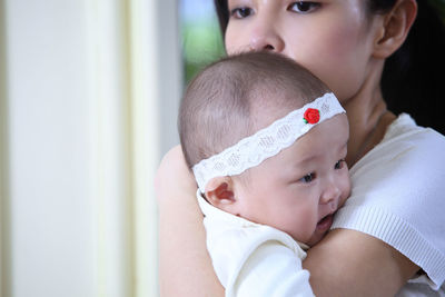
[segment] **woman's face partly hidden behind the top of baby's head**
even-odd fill
[[[364,0],[228,0],[228,55],[274,50],[309,69],[342,102],[358,92],[367,76],[377,18]]]

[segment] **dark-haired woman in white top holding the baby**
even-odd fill
[[[335,229],[309,250],[304,263],[315,294],[394,296],[403,287],[400,295],[431,296],[445,278],[445,240],[441,239],[445,221],[438,212],[445,208],[445,157],[441,156],[445,140],[387,109],[382,88],[386,100],[397,98],[394,72],[384,75],[393,81],[380,86],[386,59],[404,44],[416,18],[416,1],[218,0],[216,4],[228,55],[284,53],[324,80],[347,111],[353,195],[337,214]],[[402,110],[413,111],[409,100],[394,102],[402,103],[408,106]],[[427,107],[435,112],[438,106],[428,102]],[[441,123],[435,116],[413,115],[423,123]],[[156,186],[162,294],[224,296],[206,251],[196,185],[180,148],[162,160]],[[422,284],[406,285],[416,274]]]

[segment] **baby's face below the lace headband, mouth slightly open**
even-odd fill
[[[309,246],[318,242],[350,192],[348,137],[346,115],[337,115],[249,169],[236,187],[239,215]]]

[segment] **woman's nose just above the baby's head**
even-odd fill
[[[279,34],[277,34],[273,24],[263,24],[250,36],[250,49],[255,51],[270,50],[274,52],[281,52],[285,48],[285,42]]]

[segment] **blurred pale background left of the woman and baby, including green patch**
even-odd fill
[[[0,296],[158,296],[154,176],[210,0],[0,0]]]

